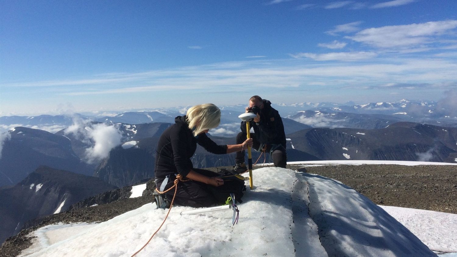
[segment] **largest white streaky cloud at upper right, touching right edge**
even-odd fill
[[[345,37],[356,42],[374,47],[412,47],[436,43],[433,36],[450,33],[457,27],[457,21],[430,21],[420,24],[383,26],[364,29],[352,37]]]

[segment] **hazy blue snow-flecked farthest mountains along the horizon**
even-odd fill
[[[282,117],[292,118],[292,120],[300,121],[295,115],[302,111],[321,111],[321,113],[328,113],[326,117],[330,127],[338,126],[341,122],[339,116],[332,117],[331,115],[338,115],[338,113],[360,114],[360,115],[388,115],[382,116],[379,119],[383,121],[410,121],[417,123],[425,123],[436,126],[457,127],[457,113],[456,108],[442,105],[439,102],[419,100],[409,101],[400,100],[397,102],[379,102],[379,103],[366,103],[355,104],[349,102],[346,104],[337,104],[331,102],[324,103],[295,103],[295,104],[272,104],[272,106],[279,111]],[[239,123],[238,115],[244,112],[246,105],[221,105],[222,110],[221,125],[218,127],[215,136],[235,136],[235,130],[238,131]],[[176,107],[160,110],[138,110],[119,113],[115,116],[105,117],[92,117],[86,115],[38,115],[38,116],[3,116],[0,117],[0,126],[8,127],[26,126],[33,128],[43,128],[50,131],[55,129],[49,126],[70,126],[73,123],[73,118],[76,117],[82,120],[91,120],[97,122],[108,123],[124,123],[124,124],[141,124],[151,122],[174,123],[174,118],[178,115],[183,115],[186,107]],[[347,115],[347,114],[345,114]],[[377,119],[377,116],[360,116],[364,119]],[[327,119],[328,118],[328,119]],[[319,126],[321,122],[310,122],[309,120],[304,123],[313,127]],[[303,123],[303,122],[302,122]],[[325,123],[325,124],[327,124]],[[369,123],[376,123],[370,121]],[[360,126],[360,123],[352,123],[351,121],[345,122],[345,127],[349,128],[377,128],[370,126]],[[55,132],[55,131],[52,131]]]

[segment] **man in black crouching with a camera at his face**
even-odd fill
[[[269,153],[275,167],[286,168],[286,134],[284,133],[284,125],[282,124],[281,116],[277,110],[271,107],[271,102],[254,95],[249,100],[250,109],[257,107],[257,117],[250,121],[250,127],[254,129],[251,133],[253,139],[253,148],[256,151]],[[241,122],[241,132],[236,136],[237,144],[243,143],[246,140],[246,122]],[[235,157],[235,173],[243,173],[247,170],[244,164],[244,152],[236,152]]]

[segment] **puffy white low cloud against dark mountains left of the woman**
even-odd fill
[[[108,157],[112,148],[121,144],[121,131],[114,124],[99,123],[88,128],[88,136],[94,146],[86,149],[88,163]]]

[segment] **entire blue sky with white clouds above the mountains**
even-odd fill
[[[0,0],[0,115],[440,100],[454,0]]]

